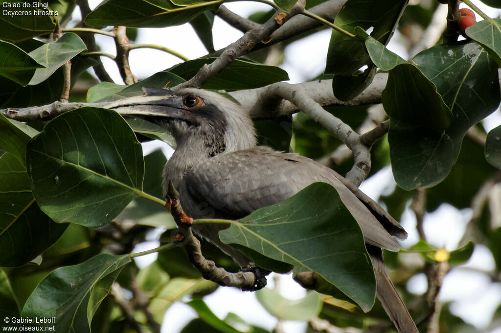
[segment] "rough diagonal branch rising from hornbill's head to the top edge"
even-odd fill
[[[305,8],[305,0],[299,0],[289,14],[283,11],[277,13],[258,29],[247,31],[239,40],[228,45],[216,60],[203,65],[194,77],[179,84],[176,88],[201,87],[217,73],[221,72],[237,57],[249,52],[261,41],[268,41],[270,35],[291,17],[301,13]]]

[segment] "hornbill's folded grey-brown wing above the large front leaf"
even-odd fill
[[[366,242],[398,251],[398,243],[367,204],[339,178],[342,177],[309,158],[256,147],[219,154],[196,164],[183,178],[179,192],[181,205],[195,218],[207,217],[204,214],[210,207],[214,217],[235,219],[282,202],[315,182],[329,183],[358,221]],[[363,200],[379,207],[366,196]]]

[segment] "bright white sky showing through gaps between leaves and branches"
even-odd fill
[[[95,8],[99,3],[99,0],[91,0],[90,6],[91,8]],[[490,17],[496,18],[501,14],[501,11],[488,9],[478,0],[474,1],[474,4]],[[225,6],[241,16],[247,16],[258,10],[267,11],[270,9],[267,5],[252,2],[228,3]],[[464,4],[461,5],[462,7],[465,7]],[[79,18],[75,19],[78,20]],[[215,49],[225,47],[240,38],[241,35],[241,32],[228,26],[219,18],[215,18],[213,27]],[[307,39],[295,42],[286,48],[287,60],[281,67],[289,73],[291,83],[303,82],[322,72],[325,66],[329,38],[330,32],[326,30],[316,33]],[[101,47],[101,51],[115,54],[115,46],[111,38],[97,35],[96,39]],[[390,42],[389,48],[406,59],[406,50],[399,44],[400,40],[401,38],[397,31]],[[161,44],[176,50],[190,59],[206,54],[205,48],[189,24],[163,29],[140,29],[136,42]],[[315,50],[315,52],[311,52],[310,50]],[[106,57],[102,57],[101,59],[113,80],[118,84],[123,84],[114,62]],[[178,58],[172,55],[151,49],[133,50],[131,51],[129,60],[133,73],[140,79],[180,62]],[[489,117],[489,121],[485,125],[487,130],[501,124],[501,116],[499,114],[499,112],[496,112]],[[156,147],[156,145],[152,145],[151,143],[147,144],[144,147],[145,154]],[[388,184],[390,184],[390,189],[394,187],[391,170],[385,168],[376,176],[364,182],[361,189],[370,197],[377,199],[383,191],[388,191]],[[424,228],[429,243],[436,247],[445,246],[448,250],[455,249],[470,215],[471,212],[469,210],[458,211],[448,205],[442,205],[437,211],[428,214],[425,218]],[[409,247],[418,239],[415,230],[415,218],[409,210],[402,216],[401,223],[409,232],[409,238],[405,242],[402,242],[402,246]],[[139,246],[136,251],[153,248],[157,245],[156,241],[149,242]],[[140,264],[147,264],[147,261],[154,260],[155,258],[152,255]],[[473,256],[465,267],[480,268],[488,271],[494,267],[493,265],[490,252],[483,246],[477,245]],[[286,291],[284,294],[287,297],[299,298],[305,294],[305,291],[290,277],[285,276],[282,278],[282,281],[282,290]],[[269,285],[273,285],[271,278],[269,279]],[[408,289],[416,294],[423,293],[426,290],[424,274],[413,277],[409,281]],[[455,268],[445,278],[440,299],[442,301],[452,301],[451,311],[454,314],[461,316],[464,320],[479,328],[485,328],[490,322],[493,311],[501,302],[501,284],[490,283],[487,275],[481,272]],[[257,324],[269,330],[275,327],[275,317],[264,310],[253,293],[241,292],[233,288],[219,288],[216,292],[205,297],[204,300],[220,318],[224,318],[231,311],[249,323]],[[187,322],[196,316],[191,307],[182,302],[177,302],[167,311],[162,332],[177,333]],[[303,322],[288,321],[285,323],[285,331],[287,333],[304,332],[305,327],[306,323]],[[488,332],[501,333],[501,328]]]

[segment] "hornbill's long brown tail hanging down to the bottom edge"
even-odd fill
[[[419,333],[405,304],[388,276],[381,249],[369,251],[376,274],[376,295],[399,333]]]

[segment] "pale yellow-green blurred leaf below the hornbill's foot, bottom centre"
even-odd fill
[[[300,299],[288,299],[278,291],[263,288],[256,291],[256,297],[261,305],[279,320],[310,321],[318,316],[322,309],[320,294],[310,291]]]

